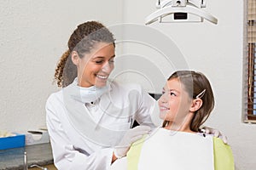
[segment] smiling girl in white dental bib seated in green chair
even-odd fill
[[[113,167],[234,170],[230,146],[200,130],[213,107],[214,97],[207,77],[195,71],[174,72],[159,99],[162,127],[132,144],[127,156]]]

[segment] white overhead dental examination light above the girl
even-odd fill
[[[156,8],[159,9],[148,15],[145,24],[149,25],[157,20],[160,23],[170,23],[202,22],[204,19],[217,24],[217,18],[202,10],[206,7],[206,0],[158,0]]]

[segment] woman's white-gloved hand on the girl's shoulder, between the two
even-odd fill
[[[138,139],[143,138],[143,135],[149,133],[149,131],[150,127],[143,125],[129,129],[125,133],[124,138],[121,139],[118,146],[115,147],[115,150],[113,151],[114,156],[116,156],[117,158],[126,156],[126,153],[130,149],[131,144]]]

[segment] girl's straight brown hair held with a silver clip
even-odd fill
[[[194,132],[200,132],[201,125],[207,121],[214,108],[214,96],[212,87],[207,77],[201,72],[195,71],[176,71],[169,80],[177,78],[182,84],[183,89],[189,94],[190,99],[199,97],[202,100],[201,108],[195,111],[195,116],[190,123],[190,129]],[[202,93],[205,90],[204,93]],[[198,96],[200,94],[200,96]],[[168,121],[163,122],[166,127]]]

